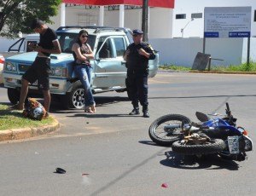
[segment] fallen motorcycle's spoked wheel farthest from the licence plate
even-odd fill
[[[152,141],[160,146],[172,146],[174,141],[179,141],[183,138],[181,128],[173,130],[164,130],[166,124],[189,124],[190,119],[180,114],[167,114],[154,120],[149,126],[148,134]],[[160,133],[158,131],[160,130]]]

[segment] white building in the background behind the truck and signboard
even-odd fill
[[[203,37],[205,7],[252,7],[252,37],[256,37],[255,0],[175,0],[174,9],[149,9],[149,38]],[[99,6],[66,4],[65,24],[67,26],[99,26]],[[191,19],[194,20],[191,20]],[[61,26],[61,11],[53,18]],[[119,6],[105,6],[104,26],[119,26]],[[125,27],[141,28],[142,8],[125,6]]]

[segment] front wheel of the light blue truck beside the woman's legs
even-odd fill
[[[61,97],[63,106],[67,109],[83,109],[84,108],[84,88],[81,84],[74,84],[70,93]]]

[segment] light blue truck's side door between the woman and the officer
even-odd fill
[[[93,83],[96,88],[125,86],[126,67],[123,58],[125,49],[125,37],[115,36],[99,39]]]

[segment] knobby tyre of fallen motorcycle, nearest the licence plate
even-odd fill
[[[183,155],[211,154],[223,151],[225,143],[221,139],[213,139],[205,144],[188,145],[184,141],[175,141],[172,144],[172,152]]]

